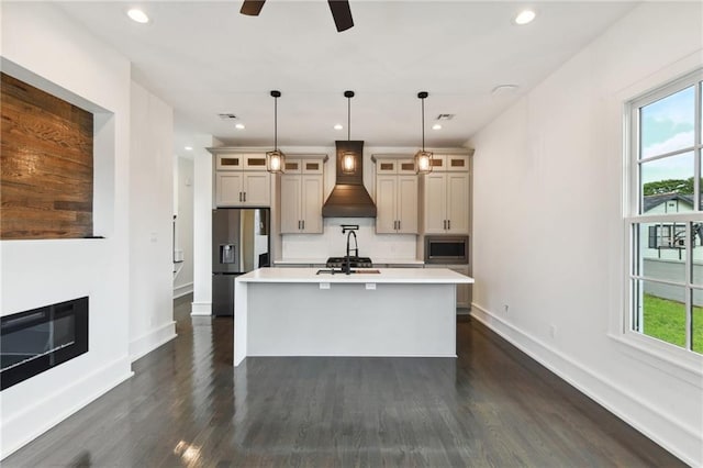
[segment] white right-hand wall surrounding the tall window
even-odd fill
[[[473,315],[694,466],[701,359],[698,374],[650,360],[617,330],[623,103],[701,66],[702,13],[637,7],[469,142]]]

